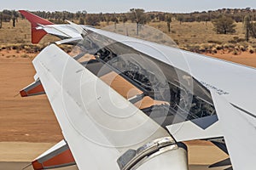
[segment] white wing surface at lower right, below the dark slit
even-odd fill
[[[248,121],[245,113],[237,111],[223,96],[212,92],[212,98],[224,132],[224,139],[234,169],[254,167],[256,150],[255,118]]]

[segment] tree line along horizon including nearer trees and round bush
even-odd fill
[[[139,25],[147,24],[148,22],[165,21],[167,30],[171,32],[172,20],[178,20],[180,24],[183,22],[208,22],[211,21],[214,26],[214,31],[218,34],[229,34],[236,32],[235,22],[243,22],[245,26],[245,37],[248,41],[249,37],[256,37],[256,9],[251,8],[222,8],[215,11],[193,12],[189,14],[175,14],[164,12],[145,12],[143,8],[131,8],[126,13],[99,13],[88,14],[86,10],[71,13],[68,11],[34,11],[36,14],[44,19],[50,20],[55,24],[65,23],[65,20],[72,20],[81,25],[99,26],[100,22],[125,23],[131,21],[137,24],[137,31]],[[15,27],[18,18],[24,18],[19,12],[15,10],[3,10],[0,12],[0,28],[3,22],[12,22]],[[138,32],[137,32],[138,33]]]

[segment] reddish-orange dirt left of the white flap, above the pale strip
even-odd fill
[[[21,88],[33,82],[34,74],[32,59],[0,57],[2,142],[57,142],[62,139],[61,129],[45,95],[31,98],[21,98],[17,95]]]

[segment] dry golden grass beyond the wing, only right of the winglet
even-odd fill
[[[111,25],[113,25],[113,23],[109,23],[109,26]],[[122,23],[119,24],[119,26],[122,25]],[[105,26],[107,26],[107,23],[102,22],[99,27]],[[248,47],[256,48],[255,38],[250,38],[250,42],[245,42],[244,29],[241,22],[236,23],[236,33],[227,35],[217,34],[213,31],[212,22],[183,22],[180,24],[178,21],[172,21],[171,32],[167,31],[166,22],[150,22],[148,26],[152,26],[166,33],[174,42],[177,42],[180,48],[198,53],[216,53],[217,50],[225,49],[230,53],[239,54],[245,49],[248,50]],[[118,32],[118,27],[114,31]],[[157,35],[153,35],[153,37],[154,36]],[[154,41],[156,38],[150,39],[150,37],[147,36],[146,39]],[[253,51],[252,48],[250,48],[251,51]]]

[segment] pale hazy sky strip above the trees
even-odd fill
[[[148,11],[189,13],[218,8],[256,8],[255,0],[3,0],[0,10],[63,11],[88,13],[121,13],[130,8]]]

